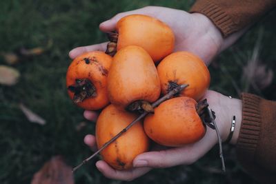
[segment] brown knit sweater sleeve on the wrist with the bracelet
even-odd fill
[[[237,157],[261,183],[276,183],[276,102],[242,94]]]

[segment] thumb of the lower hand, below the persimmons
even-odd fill
[[[208,128],[206,136],[199,142],[185,145],[184,147],[139,154],[133,161],[133,166],[163,168],[180,164],[190,165],[206,154],[216,142],[215,132]]]

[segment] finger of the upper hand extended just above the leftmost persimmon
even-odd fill
[[[103,51],[104,52],[104,51],[106,51],[106,45],[107,44],[108,44],[108,42],[74,48],[73,50],[71,50],[69,52],[69,57],[71,59],[75,59],[80,54],[83,54],[85,52],[94,51],[94,50],[96,50],[96,51]]]

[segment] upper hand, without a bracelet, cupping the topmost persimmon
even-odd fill
[[[183,10],[148,6],[138,10],[122,12],[99,25],[103,32],[115,30],[117,21],[128,14],[147,14],[164,21],[175,33],[175,51],[186,50],[199,56],[208,65],[221,50],[231,45],[244,31],[223,39],[219,30],[204,14],[190,14]],[[106,43],[75,48],[70,51],[72,59],[83,52],[106,50]]]

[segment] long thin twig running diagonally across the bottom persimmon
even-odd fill
[[[154,103],[152,103],[152,108],[156,108],[160,103],[171,99],[172,96],[175,96],[175,94],[181,92],[182,90],[184,90],[185,88],[188,87],[188,84],[184,84],[184,85],[178,85],[176,88],[173,88],[172,90],[170,90],[170,92],[168,92],[166,95],[162,96],[160,99],[158,99],[157,101],[155,101]],[[124,134],[126,131],[128,131],[128,129],[130,129],[130,127],[132,127],[132,125],[134,125],[135,123],[137,123],[137,121],[140,121],[141,119],[143,119],[149,112],[143,112],[142,114],[140,114],[140,116],[137,117],[137,119],[135,119],[134,121],[132,121],[128,126],[126,126],[123,130],[121,130],[121,132],[119,132],[116,136],[112,137],[112,139],[110,139],[108,142],[104,143],[103,146],[97,150],[97,152],[95,152],[94,154],[92,154],[91,156],[89,156],[87,159],[83,160],[81,162],[81,164],[77,165],[77,167],[74,167],[72,169],[72,172],[75,172],[77,169],[79,169],[79,167],[81,167],[81,165],[86,164],[88,161],[90,161],[90,159],[92,159],[93,157],[95,157],[97,154],[99,154],[99,152],[101,152],[104,148],[106,148],[108,145],[110,145],[112,142],[114,142],[116,139],[119,138],[119,136],[121,136],[121,134]]]

